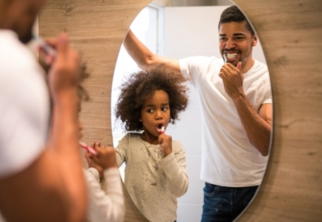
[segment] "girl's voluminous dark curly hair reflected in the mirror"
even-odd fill
[[[154,91],[168,93],[170,123],[175,124],[179,113],[188,105],[188,88],[181,73],[175,73],[166,64],[157,65],[130,75],[128,81],[120,86],[120,96],[115,107],[116,119],[120,119],[126,131],[142,131],[140,122],[144,100]]]

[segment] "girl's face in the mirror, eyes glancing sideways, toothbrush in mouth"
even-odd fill
[[[150,98],[147,98],[141,110],[141,119],[146,140],[158,138],[158,127],[168,126],[170,122],[170,105],[168,93],[156,90]]]

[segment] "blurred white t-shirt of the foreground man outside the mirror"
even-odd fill
[[[44,149],[49,91],[35,55],[0,30],[0,178],[23,171]]]

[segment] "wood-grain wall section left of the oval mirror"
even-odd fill
[[[128,27],[148,3],[148,0],[51,0],[39,15],[39,35],[56,37],[60,32],[67,32],[71,44],[87,64],[90,77],[83,85],[90,100],[82,103],[80,113],[86,143],[112,144],[110,104],[116,59]],[[87,166],[85,158],[83,164]],[[123,190],[125,221],[146,221],[126,189]]]

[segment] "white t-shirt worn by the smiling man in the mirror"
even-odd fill
[[[197,89],[202,109],[201,179],[226,187],[259,185],[268,157],[249,143],[233,100],[225,92],[218,76],[223,60],[194,56],[180,60],[180,70]],[[244,92],[258,112],[264,103],[272,103],[268,68],[255,60],[244,73]]]

